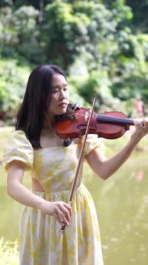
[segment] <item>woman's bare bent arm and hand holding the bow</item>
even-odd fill
[[[72,215],[72,208],[65,202],[49,202],[38,195],[33,194],[23,184],[25,165],[23,162],[13,160],[10,163],[7,177],[7,191],[8,195],[13,197],[17,202],[26,206],[31,206],[40,209],[47,215],[53,215],[58,222],[63,225],[69,225],[69,219]]]

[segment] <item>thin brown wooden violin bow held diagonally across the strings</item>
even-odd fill
[[[82,145],[81,153],[80,153],[80,156],[79,156],[79,162],[78,162],[78,165],[77,165],[77,168],[76,168],[76,174],[74,176],[74,181],[72,183],[72,189],[71,189],[70,195],[69,195],[69,202],[68,202],[69,205],[72,202],[72,196],[74,194],[74,188],[75,188],[75,185],[76,185],[76,181],[78,179],[79,169],[80,169],[80,166],[81,166],[81,160],[83,158],[83,152],[84,152],[84,149],[85,149],[85,142],[86,142],[86,139],[88,137],[88,130],[89,130],[89,127],[90,127],[90,121],[92,119],[92,113],[94,112],[94,106],[95,106],[95,103],[96,103],[96,100],[97,100],[98,96],[99,96],[98,94],[96,94],[94,96],[94,100],[93,100],[93,103],[92,103],[92,111],[90,112],[90,116],[89,116],[89,120],[88,120],[88,125],[87,125],[86,131],[85,131],[85,137],[84,137],[83,145]],[[64,233],[64,230],[65,230],[65,225],[63,225],[61,227],[61,234]]]

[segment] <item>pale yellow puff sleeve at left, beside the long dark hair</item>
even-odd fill
[[[6,171],[13,160],[24,162],[26,171],[33,167],[33,147],[22,130],[15,130],[6,140],[2,160]]]

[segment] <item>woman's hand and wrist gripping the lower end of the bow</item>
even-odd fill
[[[69,220],[72,215],[72,207],[69,204],[63,201],[49,202],[44,200],[40,209],[43,213],[56,217],[60,225],[69,225]]]

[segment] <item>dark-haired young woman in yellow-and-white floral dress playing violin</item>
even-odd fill
[[[66,112],[68,103],[63,71],[49,65],[36,68],[28,78],[16,130],[6,143],[3,167],[8,170],[8,195],[24,204],[19,227],[21,265],[103,265],[97,214],[81,183],[83,166],[68,204],[81,144],[73,141],[65,146],[54,131],[56,116]],[[145,126],[134,123],[129,143],[109,160],[97,135],[88,135],[84,157],[101,179],[116,172],[147,135],[147,120]],[[25,170],[31,172],[32,190],[22,183]]]

